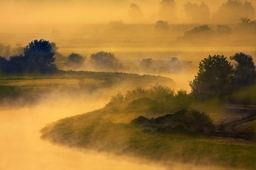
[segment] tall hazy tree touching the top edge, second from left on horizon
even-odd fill
[[[177,3],[174,0],[162,0],[160,2],[159,17],[160,19],[174,22],[177,19]]]

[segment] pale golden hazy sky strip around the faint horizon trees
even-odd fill
[[[159,20],[161,0],[0,0],[1,24],[99,24],[112,20],[124,23],[152,24]],[[189,0],[176,0],[177,24],[187,22],[184,4]],[[249,0],[255,6],[255,0]],[[226,0],[191,0],[205,2],[210,15]],[[244,2],[244,0],[242,0]],[[129,16],[129,4],[139,6],[142,15],[137,19]],[[246,17],[246,16],[245,16]]]

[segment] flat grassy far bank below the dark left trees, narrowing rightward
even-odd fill
[[[173,80],[167,77],[119,72],[58,71],[53,75],[0,75],[0,104],[2,99],[10,99],[12,96],[11,93],[4,92],[6,88],[9,92],[10,89],[18,89],[19,93],[15,93],[17,98],[26,97],[31,101],[52,92],[74,96],[115,88],[129,90],[137,85],[148,87],[157,82],[167,86],[174,84]]]

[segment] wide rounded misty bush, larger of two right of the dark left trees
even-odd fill
[[[91,54],[90,60],[96,67],[99,68],[115,69],[121,67],[121,63],[119,63],[119,60],[112,52],[100,51],[93,53]]]

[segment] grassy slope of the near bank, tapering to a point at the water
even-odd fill
[[[97,151],[127,154],[156,161],[254,169],[254,142],[200,135],[161,134],[130,125],[131,115],[102,110],[61,119],[44,127],[42,138],[54,143]],[[125,117],[123,122],[117,122]],[[137,113],[137,116],[140,115]],[[156,116],[157,114],[150,116]]]

